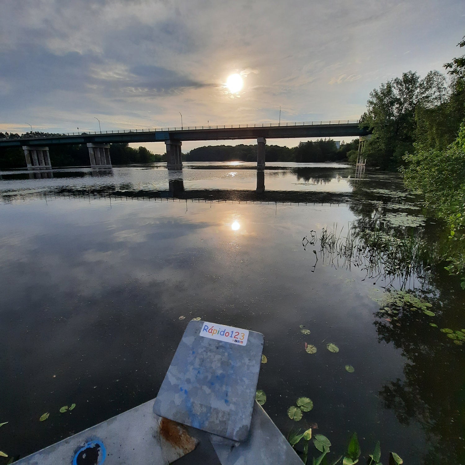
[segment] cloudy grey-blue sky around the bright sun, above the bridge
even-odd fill
[[[6,0],[0,131],[357,119],[464,34],[464,0]]]

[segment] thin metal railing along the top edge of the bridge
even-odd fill
[[[237,129],[237,128],[254,128],[254,127],[281,127],[281,126],[319,126],[319,125],[341,125],[341,124],[359,124],[360,120],[327,120],[327,121],[294,121],[288,123],[248,123],[248,124],[231,124],[231,125],[208,125],[208,126],[176,126],[176,127],[157,127],[147,129],[114,129],[110,131],[85,131],[79,133],[58,133],[54,136],[83,136],[95,134],[128,134],[128,133],[155,133],[169,131],[199,131],[207,129]],[[33,139],[49,138],[49,135],[33,136]],[[31,137],[27,137],[31,138]],[[22,137],[20,139],[23,139]],[[2,140],[2,139],[0,139]]]

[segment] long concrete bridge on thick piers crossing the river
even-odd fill
[[[300,121],[292,123],[238,124],[231,126],[180,126],[156,129],[125,129],[63,133],[0,139],[2,147],[22,147],[29,169],[51,168],[49,146],[87,144],[91,166],[111,166],[110,145],[115,143],[165,142],[167,168],[181,170],[181,145],[192,140],[257,139],[257,169],[265,167],[266,139],[295,137],[363,137],[371,132],[359,120]]]

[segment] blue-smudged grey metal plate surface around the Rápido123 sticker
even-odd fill
[[[243,441],[263,352],[263,334],[249,332],[245,346],[199,336],[191,321],[174,354],[153,411],[217,436]]]

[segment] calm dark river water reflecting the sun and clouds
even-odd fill
[[[440,331],[465,328],[464,292],[442,265],[383,255],[397,237],[431,247],[441,228],[397,175],[354,174],[294,163],[1,173],[0,450],[23,457],[154,398],[200,317],[264,334],[258,388],[285,435],[312,426],[335,455],[357,432],[365,457],[381,442],[383,463],[389,451],[465,463],[465,345]],[[373,227],[384,239],[367,252]],[[295,422],[287,409],[302,396],[314,407]]]

